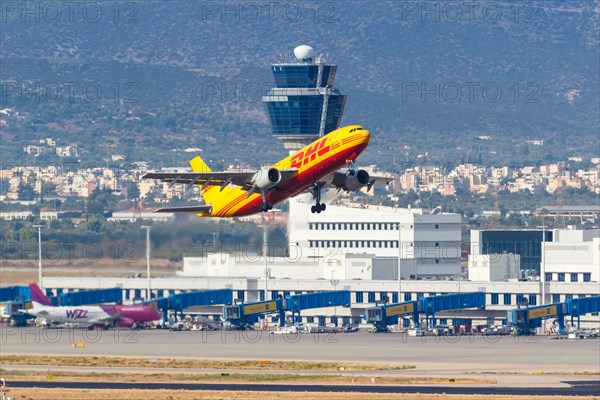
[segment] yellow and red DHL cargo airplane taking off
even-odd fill
[[[367,171],[352,168],[353,161],[367,147],[371,135],[353,125],[315,140],[278,163],[258,170],[211,171],[196,157],[190,161],[192,172],[151,172],[142,179],[160,179],[171,185],[198,184],[205,205],[161,208],[157,212],[195,212],[201,217],[241,217],[268,211],[274,204],[310,192],[315,200],[313,213],[325,211],[321,189],[336,188],[355,192],[392,178],[372,177]],[[345,166],[348,168],[341,169]],[[188,187],[188,188],[189,188]]]

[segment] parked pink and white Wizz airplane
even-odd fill
[[[88,327],[101,325],[108,327],[131,327],[135,323],[156,321],[162,318],[162,313],[148,306],[73,306],[56,307],[42,293],[38,285],[29,285],[33,308],[28,314],[46,321],[59,324],[78,324]]]

